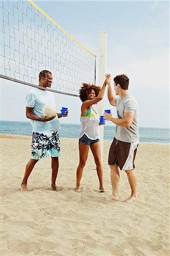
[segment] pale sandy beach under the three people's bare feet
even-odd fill
[[[104,201],[111,193],[104,142],[105,193],[100,193],[90,152],[80,193],[74,192],[78,165],[77,139],[61,138],[57,185],[50,189],[51,158],[40,160],[19,190],[30,159],[31,137],[1,134],[1,255],[138,256],[169,255],[169,146],[140,144],[135,173],[138,200],[130,196],[121,173],[119,201]]]

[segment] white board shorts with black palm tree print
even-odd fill
[[[60,138],[57,130],[38,133],[32,131],[31,159],[39,160],[52,156],[60,156]]]

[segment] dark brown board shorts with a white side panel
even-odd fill
[[[130,143],[118,141],[114,138],[110,146],[108,164],[119,166],[122,171],[134,170],[138,144],[139,141]]]

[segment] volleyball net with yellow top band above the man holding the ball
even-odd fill
[[[39,72],[53,74],[53,92],[78,96],[83,82],[96,82],[96,55],[33,1],[0,1],[0,77],[38,85]]]

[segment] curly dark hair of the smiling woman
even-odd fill
[[[101,90],[100,86],[96,86],[96,85],[91,85],[91,84],[82,84],[80,90],[79,90],[79,94],[80,94],[80,100],[82,102],[88,100],[88,94],[94,90],[96,97],[98,96],[99,91]]]

